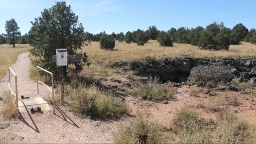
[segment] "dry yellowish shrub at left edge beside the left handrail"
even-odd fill
[[[4,119],[18,118],[14,98],[7,92],[4,92],[3,98],[3,106],[0,107],[0,117]]]

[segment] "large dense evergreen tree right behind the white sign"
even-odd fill
[[[30,35],[33,48],[30,52],[36,57],[33,64],[53,72],[60,80],[60,67],[51,63],[51,57],[56,53],[56,49],[66,48],[71,55],[78,51],[82,54],[81,46],[86,44],[84,28],[78,23],[78,16],[73,13],[70,5],[66,5],[66,2],[56,2],[50,9],[44,9],[42,15],[35,18],[31,24]],[[75,71],[82,70],[86,61],[86,53],[83,53],[83,63],[75,63]],[[64,76],[67,74],[67,67],[64,67]]]

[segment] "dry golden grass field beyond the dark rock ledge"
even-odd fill
[[[144,46],[135,43],[115,42],[114,50],[103,50],[99,48],[99,42],[91,42],[82,47],[86,52],[91,65],[85,68],[86,75],[105,79],[115,73],[122,73],[119,68],[109,69],[107,65],[115,62],[139,61],[150,56],[159,57],[256,57],[256,45],[242,42],[240,45],[230,45],[229,50],[201,50],[191,44],[174,43],[173,47],[161,47],[156,40],[150,40]],[[129,74],[129,73],[127,73]]]

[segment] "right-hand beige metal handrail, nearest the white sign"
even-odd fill
[[[55,114],[55,99],[54,99],[54,85],[53,85],[53,73],[49,72],[48,70],[45,70],[43,68],[41,68],[40,66],[36,66],[36,68],[43,70],[44,72],[47,72],[49,74],[51,74],[51,83],[52,83],[52,89],[50,87],[48,87],[46,84],[44,84],[42,81],[38,81],[38,69],[36,69],[36,81],[37,81],[37,86],[39,87],[39,83],[41,83],[42,85],[44,85],[45,87],[47,87],[48,89],[50,89],[50,91],[53,94],[53,114]],[[38,96],[39,96],[39,88],[38,88]]]

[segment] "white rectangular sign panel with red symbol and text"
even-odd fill
[[[58,66],[68,65],[68,50],[56,49],[56,63]]]

